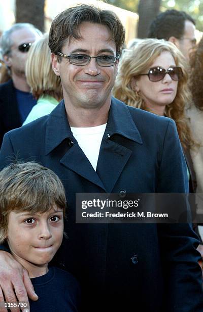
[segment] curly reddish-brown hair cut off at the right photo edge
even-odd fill
[[[195,107],[203,111],[203,37],[190,55],[190,90]]]

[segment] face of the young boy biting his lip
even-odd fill
[[[63,211],[54,208],[46,213],[10,213],[7,241],[11,252],[21,264],[29,262],[46,266],[60,247]]]

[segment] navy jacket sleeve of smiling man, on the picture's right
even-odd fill
[[[158,192],[189,192],[186,163],[173,120],[168,122],[164,137]],[[163,310],[202,312],[203,293],[201,269],[198,265],[200,254],[196,250],[199,244],[197,235],[188,223],[158,224],[157,228],[167,290]]]

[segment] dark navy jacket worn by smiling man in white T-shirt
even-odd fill
[[[85,311],[203,311],[198,239],[188,224],[76,224],[75,193],[188,192],[175,122],[112,99],[96,172],[73,137],[64,102],[5,135],[11,155],[61,178],[68,222],[56,261],[81,282]]]

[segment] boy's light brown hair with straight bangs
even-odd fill
[[[0,243],[7,237],[9,213],[45,213],[52,208],[65,214],[65,191],[59,177],[40,164],[15,163],[0,172]]]

